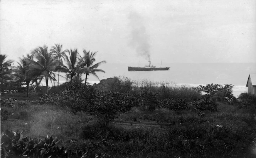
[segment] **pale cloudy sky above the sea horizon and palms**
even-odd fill
[[[55,43],[108,63],[254,63],[255,0],[1,0],[0,53]]]

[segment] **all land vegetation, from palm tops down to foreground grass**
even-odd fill
[[[255,157],[254,95],[121,77],[90,86],[82,74],[103,72],[105,61],[61,48],[36,48],[17,67],[1,56],[1,157]],[[48,90],[54,72],[70,81]],[[6,89],[22,82],[36,86]]]

